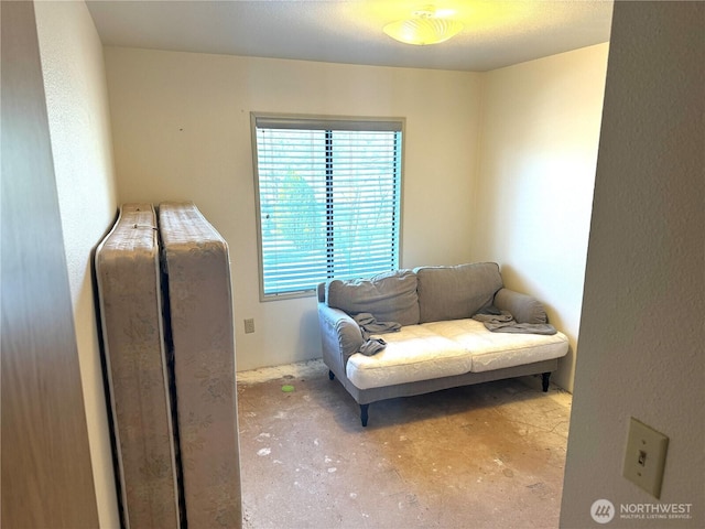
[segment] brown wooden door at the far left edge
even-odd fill
[[[0,4],[1,525],[96,528],[34,4]]]

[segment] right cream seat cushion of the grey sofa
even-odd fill
[[[473,373],[550,360],[568,352],[568,338],[563,333],[492,333],[482,323],[470,319],[425,323],[421,326],[432,334],[452,339],[467,350],[473,358]]]

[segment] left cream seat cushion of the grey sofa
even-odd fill
[[[359,389],[380,388],[470,370],[471,357],[458,342],[423,325],[402,327],[377,336],[387,347],[375,356],[356,353],[348,358],[346,374]]]

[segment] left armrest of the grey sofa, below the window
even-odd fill
[[[350,355],[357,353],[365,343],[359,325],[348,314],[339,309],[333,309],[325,303],[318,303],[318,325],[323,345],[323,359],[329,368],[334,363],[338,368],[338,376],[345,375],[345,366]]]

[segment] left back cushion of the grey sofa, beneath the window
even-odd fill
[[[350,315],[371,313],[379,322],[402,325],[419,323],[416,274],[411,270],[395,270],[369,279],[326,283],[326,303]]]

